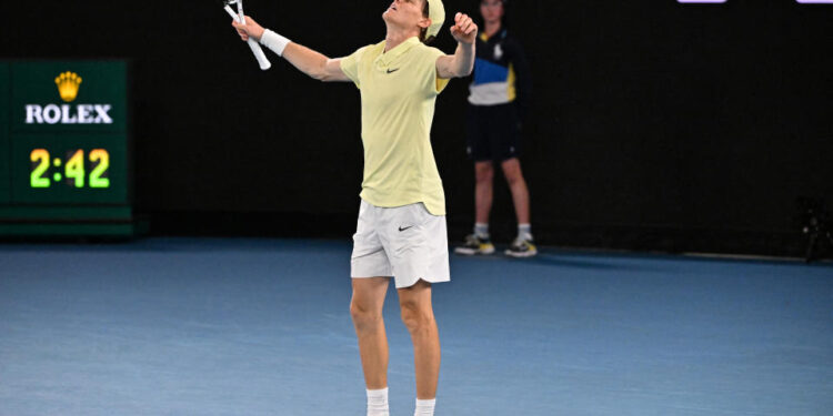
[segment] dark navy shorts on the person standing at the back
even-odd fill
[[[468,111],[466,153],[475,162],[518,158],[521,154],[521,129],[514,103],[472,105]]]

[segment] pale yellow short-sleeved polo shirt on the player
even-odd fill
[[[436,77],[444,55],[409,38],[384,52],[384,41],[341,60],[361,91],[364,180],[361,197],[383,207],[418,202],[445,215],[445,195],[431,149],[436,95],[449,80]]]

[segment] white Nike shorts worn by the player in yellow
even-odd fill
[[[393,276],[397,288],[411,287],[420,278],[450,281],[445,215],[431,215],[421,202],[380,207],[362,200],[350,276]]]

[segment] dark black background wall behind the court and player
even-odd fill
[[[248,0],[331,57],[384,35],[388,1]],[[476,1],[445,1],[476,13]],[[4,6],[2,58],[132,61],[136,207],[152,232],[340,235],[361,183],[359,94],[270,54],[258,70],[213,1]],[[833,6],[792,0],[513,1],[534,75],[522,158],[544,244],[799,254],[797,196],[833,195]],[[446,26],[448,28],[448,26]],[[444,33],[436,47],[452,52]],[[473,217],[466,82],[432,134],[449,223]],[[498,182],[498,239],[514,226]]]

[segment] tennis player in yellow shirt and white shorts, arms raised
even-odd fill
[[[414,415],[433,415],[440,337],[431,284],[448,282],[445,197],[430,142],[436,95],[474,64],[478,27],[456,13],[448,55],[426,45],[445,20],[441,0],[394,0],[382,14],[385,39],[330,59],[264,30],[247,17],[232,22],[243,40],[260,41],[321,81],[352,81],[362,102],[364,179],[351,258],[350,313],[368,389],[368,415],[388,415],[388,339],[382,305],[395,281],[402,321],[411,334],[416,378]]]

